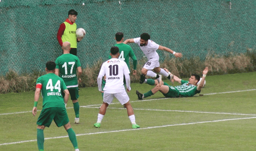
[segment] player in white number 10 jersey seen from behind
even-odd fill
[[[125,91],[123,82],[125,76],[127,92],[129,92],[131,90],[129,76],[130,71],[128,69],[127,64],[124,61],[118,59],[119,55],[119,48],[115,46],[111,47],[110,56],[112,58],[102,64],[98,75],[98,88],[99,91],[104,94],[103,103],[100,107],[98,114],[98,120],[94,124],[94,127],[96,128],[100,127],[101,120],[103,119],[106,113],[107,106],[112,103],[114,96],[127,109],[129,119],[132,123],[132,128],[139,128],[139,125],[137,125],[135,122],[135,115],[133,113],[133,109],[129,102],[129,97]],[[101,81],[104,75],[106,75],[106,84],[102,91]]]

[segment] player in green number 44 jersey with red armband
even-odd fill
[[[65,104],[68,101],[69,92],[64,81],[55,75],[56,64],[53,61],[46,63],[45,71],[47,74],[42,75],[36,80],[36,91],[34,99],[33,116],[36,115],[37,102],[40,92],[43,97],[43,107],[37,120],[37,146],[39,151],[43,151],[45,127],[50,127],[52,120],[58,127],[64,126],[68,133],[69,139],[73,144],[75,151],[79,151],[77,146],[76,135],[71,128]],[[62,92],[65,94],[63,99]]]

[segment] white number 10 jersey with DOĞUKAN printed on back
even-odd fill
[[[122,92],[124,88],[124,74],[129,74],[127,64],[117,58],[112,58],[104,62],[101,66],[99,76],[106,75],[106,85],[104,93],[114,94]]]

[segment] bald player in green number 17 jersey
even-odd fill
[[[73,102],[74,111],[75,111],[75,121],[74,123],[79,123],[79,103],[78,103],[78,82],[76,69],[78,71],[78,77],[82,74],[82,68],[80,60],[77,56],[69,53],[70,43],[64,42],[62,45],[63,55],[59,56],[56,59],[56,70],[55,74],[59,75],[65,82],[68,91],[70,93],[71,100]],[[81,82],[81,78],[78,78],[78,81]]]

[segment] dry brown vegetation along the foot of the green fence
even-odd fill
[[[161,63],[161,68],[167,68],[174,75],[180,78],[188,78],[192,73],[201,75],[205,66],[209,67],[209,75],[228,74],[228,73],[241,73],[256,71],[256,51],[248,49],[247,53],[233,54],[218,56],[214,52],[209,51],[205,60],[199,57],[187,58],[170,58],[165,54],[165,60]],[[138,60],[137,74],[131,75],[131,82],[138,82],[141,74],[140,69],[147,61],[146,58]],[[95,87],[97,86],[97,77],[103,63],[102,59],[95,62],[94,66],[87,65],[83,69],[82,83],[79,87]],[[131,69],[132,63],[130,62]],[[44,71],[33,71],[30,74],[18,74],[13,70],[9,70],[6,75],[0,77],[0,93],[10,92],[26,92],[34,91],[36,79],[45,74]]]

